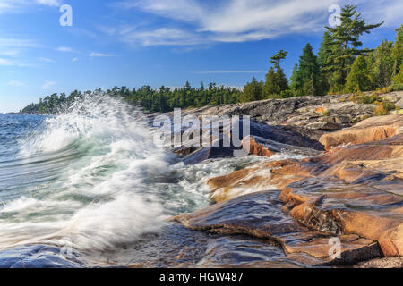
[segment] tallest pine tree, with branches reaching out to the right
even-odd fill
[[[341,92],[346,84],[347,75],[357,55],[371,52],[368,49],[359,49],[363,46],[359,38],[364,33],[369,34],[372,29],[380,27],[383,22],[367,25],[361,13],[356,12],[355,5],[346,5],[340,14],[341,24],[335,28],[325,27],[330,32],[333,46],[329,65],[325,68],[332,72],[330,77],[330,91]]]

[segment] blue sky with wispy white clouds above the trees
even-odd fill
[[[243,87],[264,78],[279,49],[289,76],[344,4],[385,21],[364,46],[394,40],[401,0],[0,0],[0,112],[74,89]]]

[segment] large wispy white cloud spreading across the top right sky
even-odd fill
[[[117,6],[150,13],[168,23],[150,29],[124,27],[115,34],[142,46],[256,41],[322,31],[328,24],[330,5],[348,3],[347,0],[226,0],[214,4],[201,0],[126,0]],[[368,22],[401,21],[401,0],[358,0],[355,4]]]

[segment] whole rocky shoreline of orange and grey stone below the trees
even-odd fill
[[[398,106],[386,116],[373,117],[373,104],[350,97],[185,110],[195,116],[250,115],[251,134],[244,141],[251,154],[270,157],[289,147],[305,158],[262,161],[212,178],[207,183],[215,204],[171,221],[219,237],[265,240],[296,265],[403,267],[403,92],[382,95]],[[188,164],[228,155],[220,147],[176,153]],[[341,246],[336,257],[330,254],[335,239]]]

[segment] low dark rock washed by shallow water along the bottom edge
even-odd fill
[[[265,240],[193,231],[179,223],[168,223],[159,234],[145,235],[124,251],[106,252],[102,257],[107,257],[107,266],[133,268],[308,266],[287,259],[282,248]],[[124,265],[115,265],[122,257]]]

